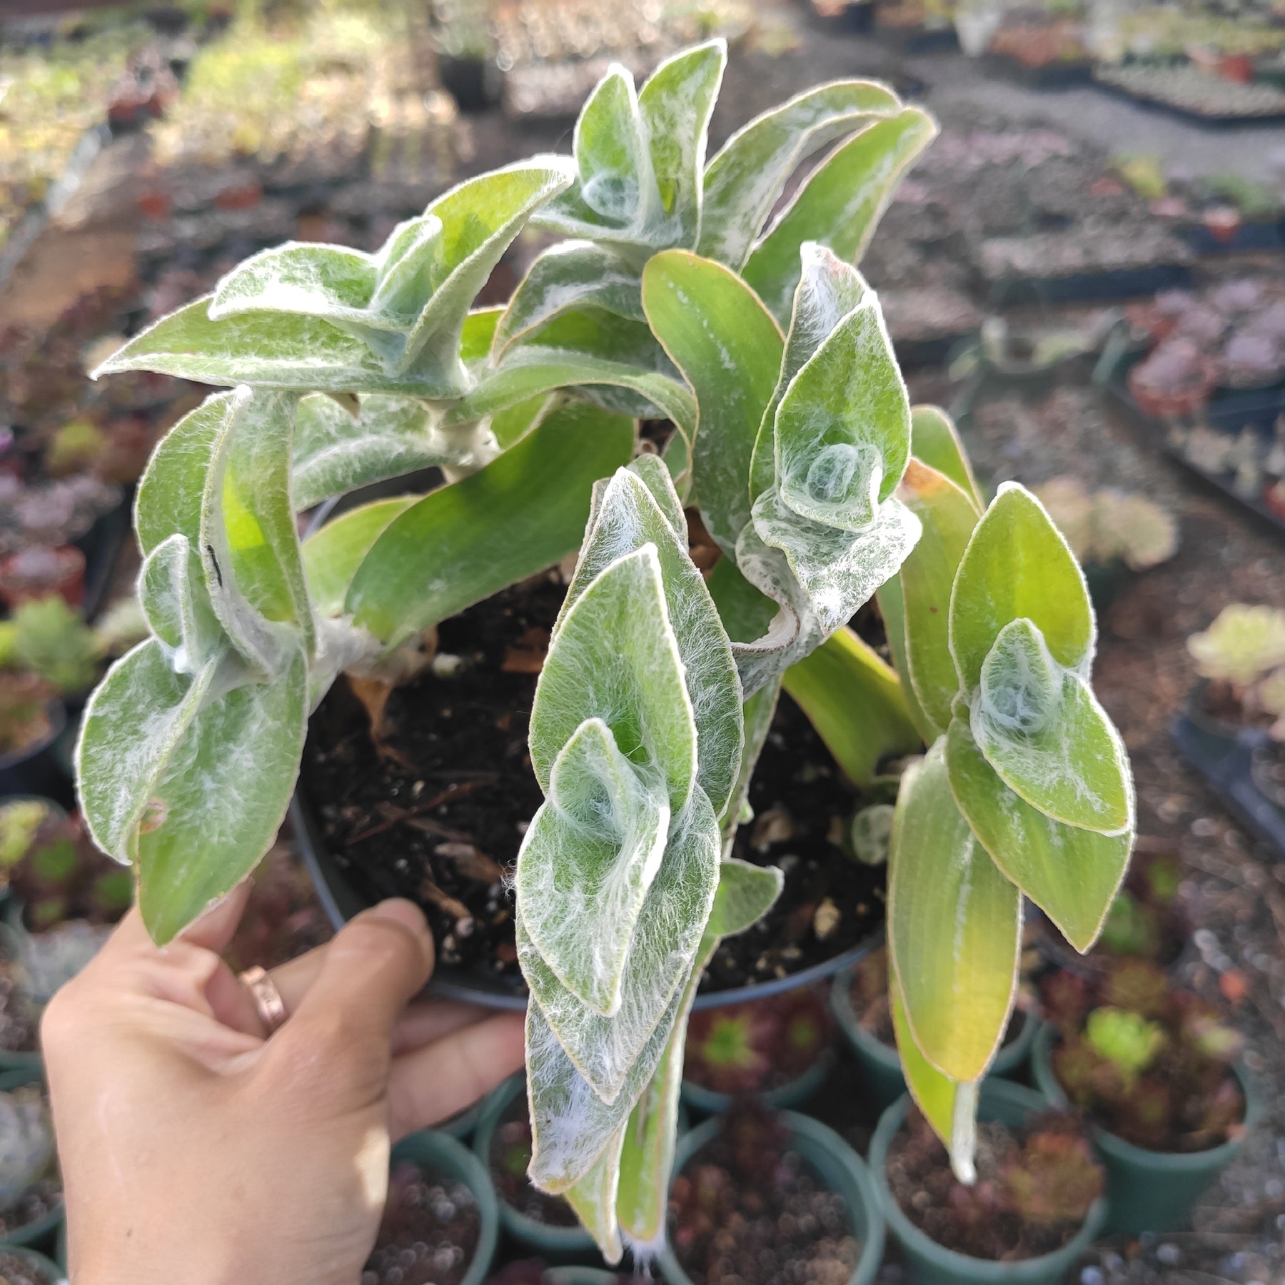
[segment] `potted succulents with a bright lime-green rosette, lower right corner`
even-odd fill
[[[1049,1025],[1036,1041],[1036,1082],[1097,1126],[1109,1230],[1186,1226],[1258,1118],[1237,1063],[1240,1034],[1145,960],[1122,960],[1092,983],[1056,973],[1043,1000]]]

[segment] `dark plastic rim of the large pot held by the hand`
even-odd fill
[[[339,870],[302,788],[296,789],[294,798],[290,799],[290,826],[294,830],[294,839],[299,846],[303,864],[316,888],[317,900],[338,930],[353,915],[365,910],[369,902],[352,888],[343,871]],[[747,1004],[750,1000],[765,1000],[772,995],[783,995],[786,991],[797,991],[815,982],[822,982],[840,969],[856,964],[864,955],[880,946],[883,938],[884,934],[880,929],[842,955],[835,955],[834,959],[824,960],[821,964],[815,964],[812,968],[802,969],[788,977],[774,978],[771,982],[757,982],[753,986],[741,986],[729,991],[700,992],[696,995],[693,1009],[721,1009],[731,1004]],[[501,978],[488,978],[461,968],[451,968],[448,964],[437,966],[428,988],[445,998],[464,1000],[469,1004],[479,1004],[486,1009],[523,1010],[527,1006],[526,986],[520,980],[514,983]]]

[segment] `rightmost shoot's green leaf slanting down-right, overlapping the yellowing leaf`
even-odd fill
[[[955,801],[995,864],[1087,951],[1124,878],[1132,833],[1095,834],[1036,811],[1000,780],[962,717],[947,732],[946,766]]]

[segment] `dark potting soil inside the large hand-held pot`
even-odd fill
[[[382,752],[348,684],[335,684],[312,717],[303,754],[305,794],[352,885],[370,901],[419,902],[442,962],[501,977],[518,993],[504,876],[542,801],[527,722],[564,594],[550,572],[443,621],[434,667],[388,700]],[[722,943],[702,979],[705,991],[831,959],[884,917],[884,871],[846,860],[837,846],[856,790],[788,696],[749,802],[757,820],[741,826],[735,855],[779,866],[785,887],[761,923]]]

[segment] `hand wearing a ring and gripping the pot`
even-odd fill
[[[76,1285],[355,1285],[391,1141],[522,1064],[522,1019],[409,1004],[433,970],[386,901],[272,970],[266,1036],[218,952],[243,885],[158,950],[137,910],[41,1025]]]

